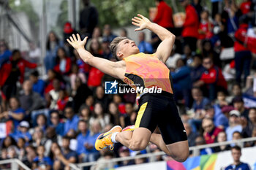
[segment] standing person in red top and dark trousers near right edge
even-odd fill
[[[244,71],[244,84],[246,83],[246,77],[250,73],[250,64],[252,61],[252,53],[247,45],[247,18],[241,21],[238,30],[235,33],[236,42],[234,44],[235,50],[235,67],[236,67],[236,82],[241,83],[241,74]]]

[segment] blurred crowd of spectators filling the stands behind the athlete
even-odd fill
[[[246,106],[244,96],[256,98],[255,1],[213,0],[206,9],[200,0],[179,0],[186,12],[181,27],[173,21],[173,9],[157,0],[157,15],[151,20],[176,35],[166,65],[172,71],[176,103],[187,131],[189,146],[225,142],[256,136],[256,104]],[[31,43],[23,52],[0,41],[1,160],[18,158],[31,169],[69,169],[69,163],[105,161],[116,157],[159,152],[154,144],[134,152],[121,144],[113,151],[95,150],[99,134],[113,125],[134,125],[138,106],[136,94],[105,94],[105,81],[115,80],[84,63],[65,39],[79,33],[89,36],[86,50],[92,55],[116,61],[110,42],[127,36],[122,28],[113,34],[110,25],[100,28],[96,7],[84,0],[80,28],[67,22],[63,39],[48,34],[46,56]],[[222,5],[222,7],[221,7]],[[138,33],[141,53],[154,53],[159,37],[146,41]],[[42,61],[43,63],[40,62]],[[40,76],[39,68],[47,76]],[[253,104],[252,104],[253,105]],[[256,142],[237,143],[239,147]],[[206,148],[194,155],[230,150],[236,144]],[[158,156],[155,161],[170,159]],[[118,164],[99,164],[91,169],[145,163],[145,158]],[[8,168],[4,165],[0,168]],[[89,168],[86,168],[89,169]]]

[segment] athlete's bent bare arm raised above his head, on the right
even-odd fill
[[[170,56],[170,52],[173,49],[173,44],[175,42],[175,35],[172,34],[167,29],[163,28],[162,26],[157,25],[157,23],[151,23],[148,18],[144,17],[143,15],[138,14],[138,17],[132,18],[132,24],[135,26],[139,26],[136,28],[135,31],[140,31],[145,28],[148,28],[150,31],[153,31],[159,38],[162,40],[160,45],[157,47],[157,58],[160,61],[165,63],[167,58]]]

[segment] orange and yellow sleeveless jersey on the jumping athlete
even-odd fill
[[[162,88],[173,94],[170,70],[154,54],[138,53],[123,58],[126,63],[124,82],[132,88]],[[138,94],[140,95],[140,94]]]

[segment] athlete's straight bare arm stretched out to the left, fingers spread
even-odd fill
[[[91,55],[91,53],[89,53],[89,51],[87,51],[84,48],[84,45],[86,45],[87,38],[88,37],[86,36],[86,38],[83,39],[82,41],[80,39],[79,34],[77,34],[77,36],[73,34],[72,36],[69,37],[69,39],[67,39],[67,42],[69,42],[69,44],[72,45],[72,47],[74,47],[75,50],[78,51],[80,58],[82,58],[82,60],[85,63],[88,63],[89,65],[96,67],[101,72],[108,74],[112,77],[124,79],[124,72],[125,72],[124,63],[122,61],[118,61],[118,62],[108,61],[104,58],[98,58]]]

